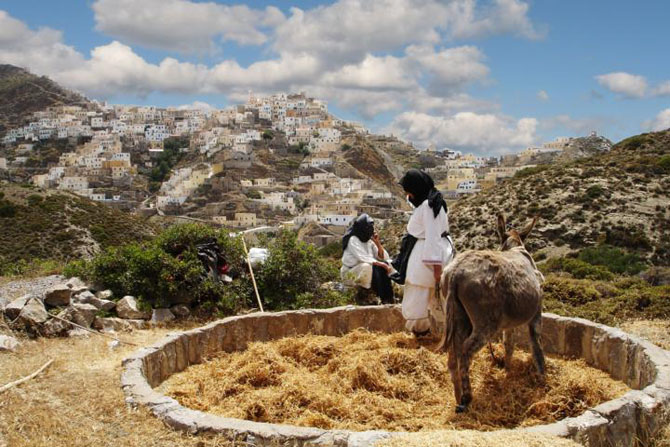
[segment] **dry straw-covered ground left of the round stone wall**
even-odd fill
[[[167,332],[137,331],[122,338],[146,345]],[[0,446],[230,445],[219,437],[175,432],[146,410],[126,407],[119,387],[121,360],[136,348],[110,351],[108,341],[96,336],[24,340],[17,353],[0,354],[0,384],[28,375],[54,359],[44,373],[0,394]]]

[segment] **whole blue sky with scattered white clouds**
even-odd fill
[[[479,155],[670,127],[667,0],[3,0],[0,63],[115,104],[304,91]]]

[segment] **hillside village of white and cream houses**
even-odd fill
[[[611,146],[589,138],[601,150]],[[500,158],[433,145],[418,151],[335,118],[325,101],[305,93],[249,92],[245,104],[222,110],[95,101],[48,107],[7,130],[0,171],[144,215],[235,229],[313,222],[323,231],[312,242],[321,245],[360,212],[386,219],[406,211],[397,180],[410,167],[431,173],[457,199],[551,162],[577,140]]]

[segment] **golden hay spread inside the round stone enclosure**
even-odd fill
[[[502,348],[498,348],[502,349]],[[168,379],[162,390],[189,408],[253,421],[325,429],[492,430],[576,416],[628,388],[582,361],[547,359],[546,380],[517,352],[509,372],[482,350],[474,400],[454,413],[446,354],[405,333],[363,330],[254,343]]]

